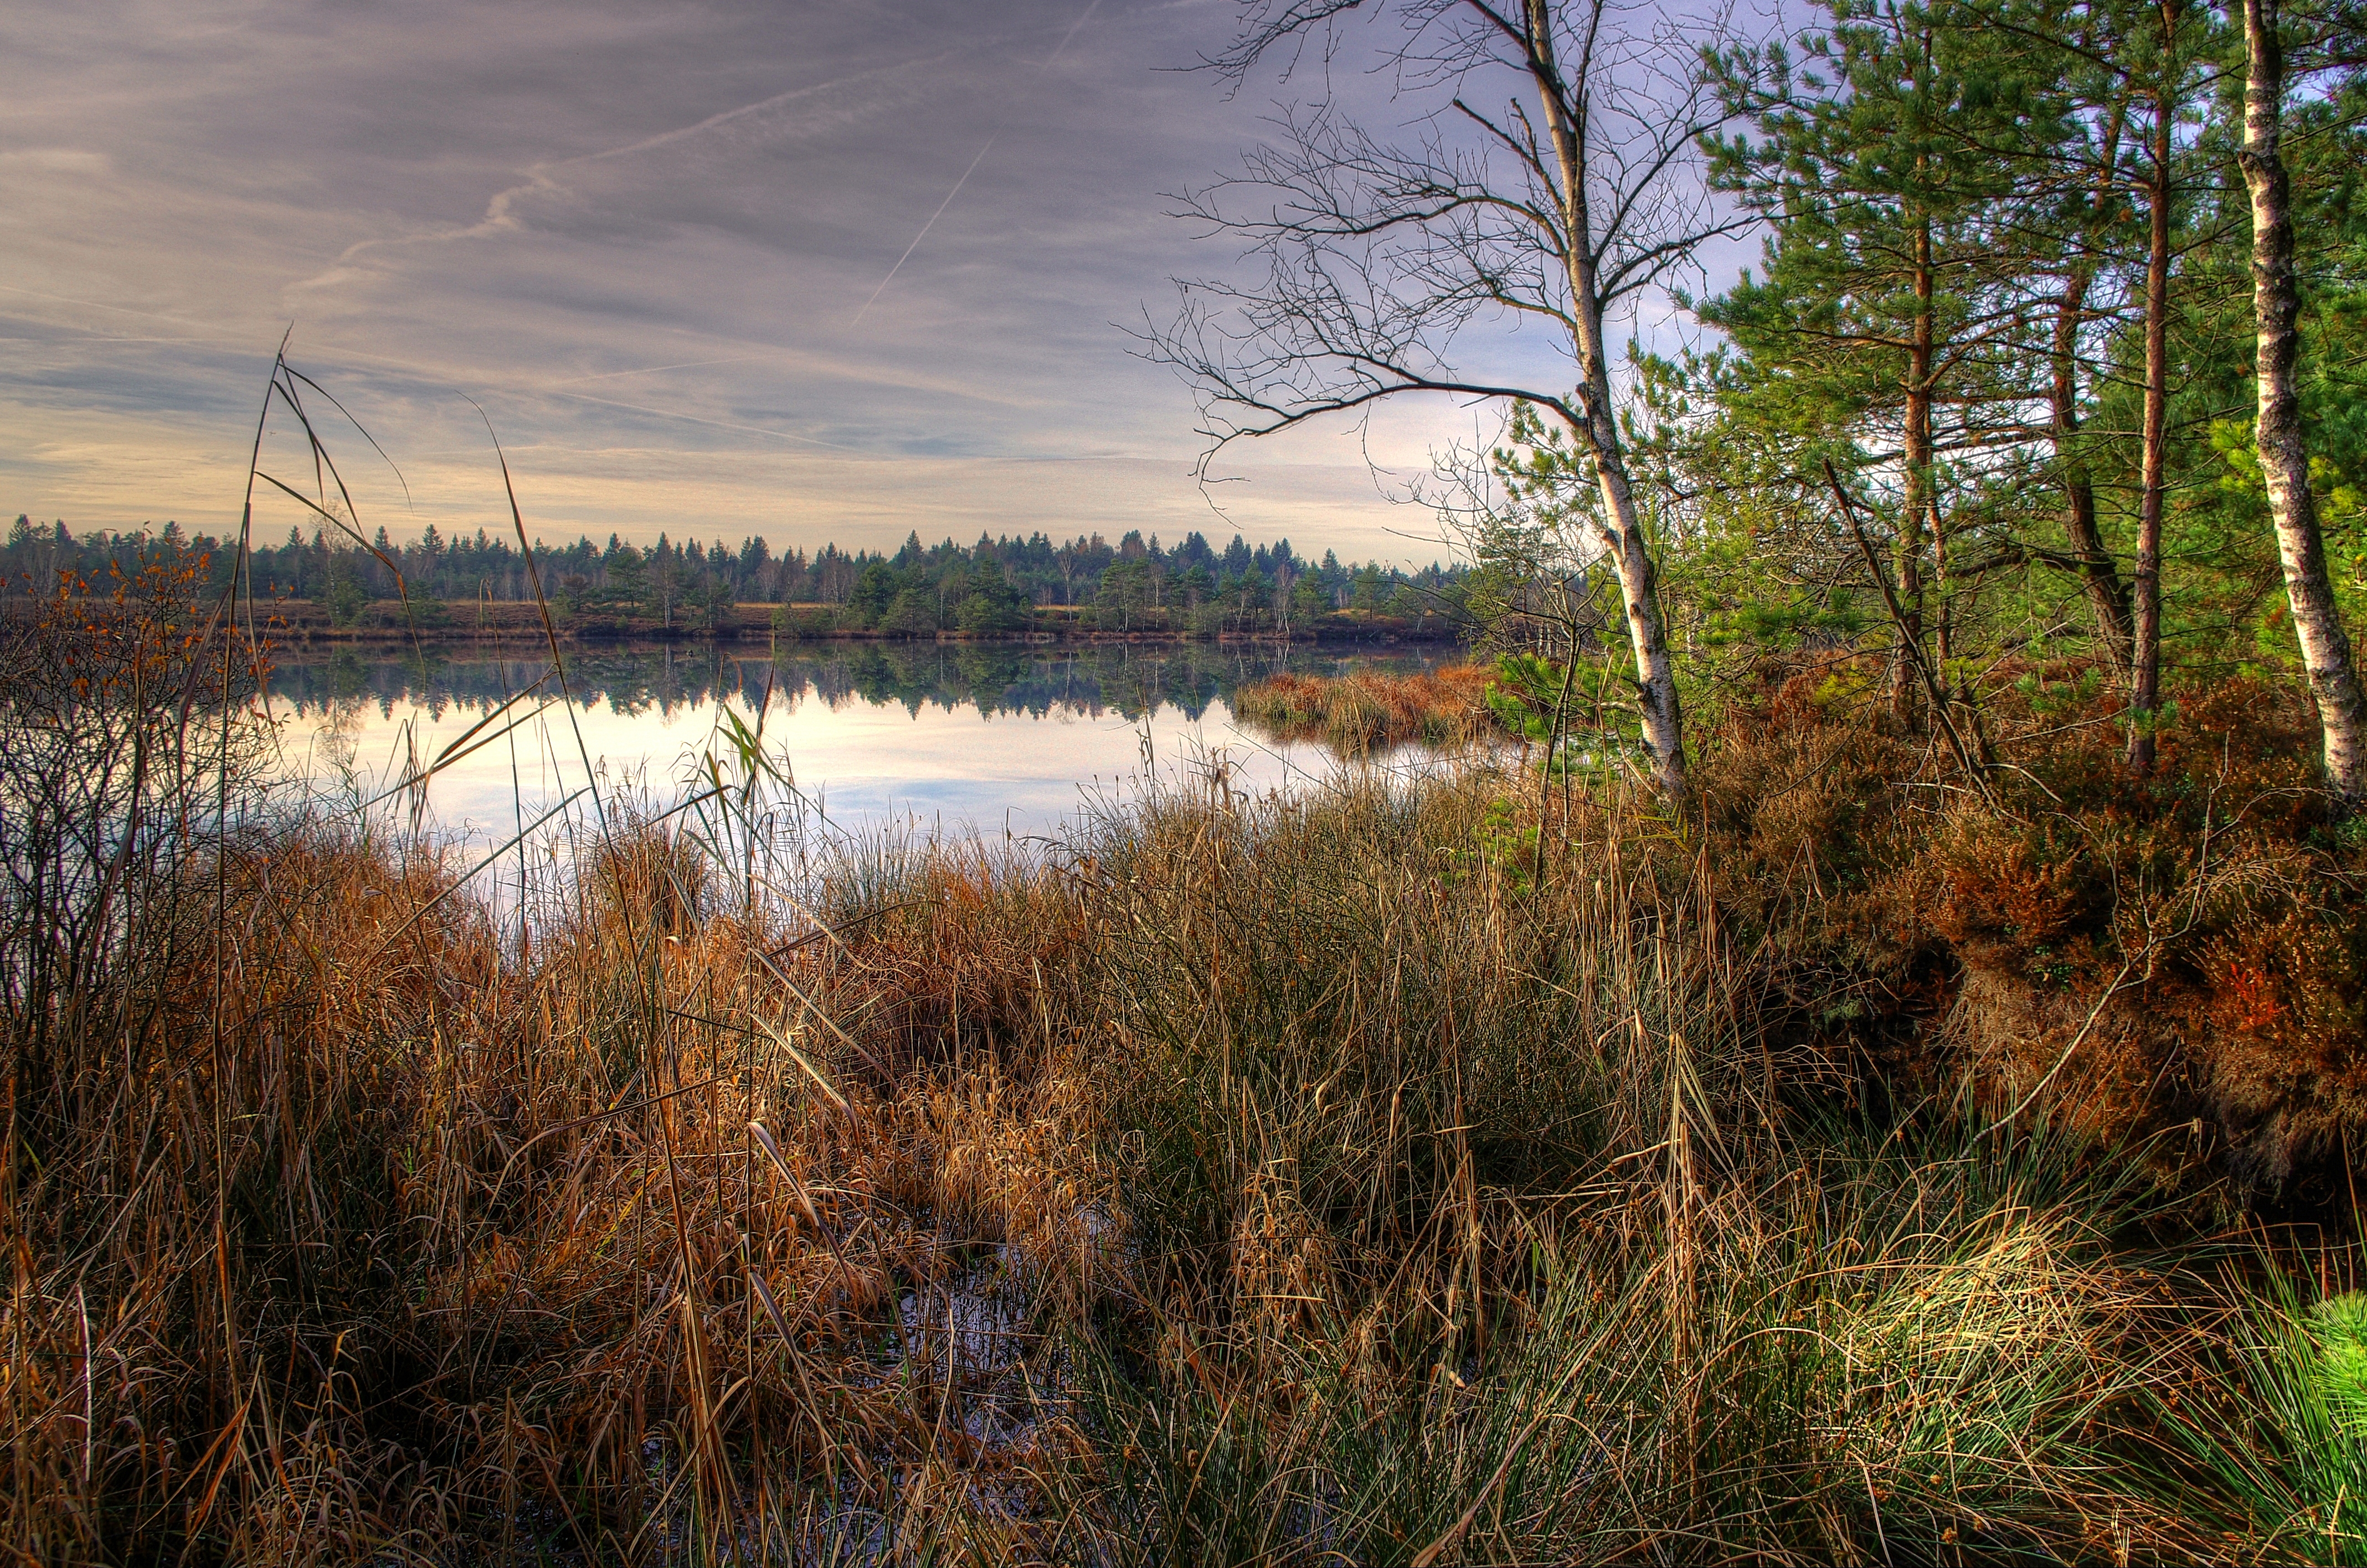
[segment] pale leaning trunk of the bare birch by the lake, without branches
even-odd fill
[[[1676,662],[1669,657],[1669,629],[1659,617],[1659,572],[1652,565],[1652,549],[1636,511],[1636,487],[1628,482],[1626,452],[1619,442],[1610,355],[1602,341],[1602,289],[1595,274],[1593,215],[1586,203],[1586,123],[1584,116],[1572,116],[1562,102],[1546,0],[1527,0],[1527,21],[1529,59],[1562,177],[1569,303],[1579,326],[1579,412],[1584,421],[1576,435],[1595,464],[1595,485],[1602,492],[1602,551],[1619,575],[1619,603],[1626,613],[1628,641],[1636,646],[1636,707],[1643,714],[1645,750],[1652,754],[1652,780],[1678,816],[1688,816],[1692,783],[1685,773],[1685,717],[1676,698]]]

